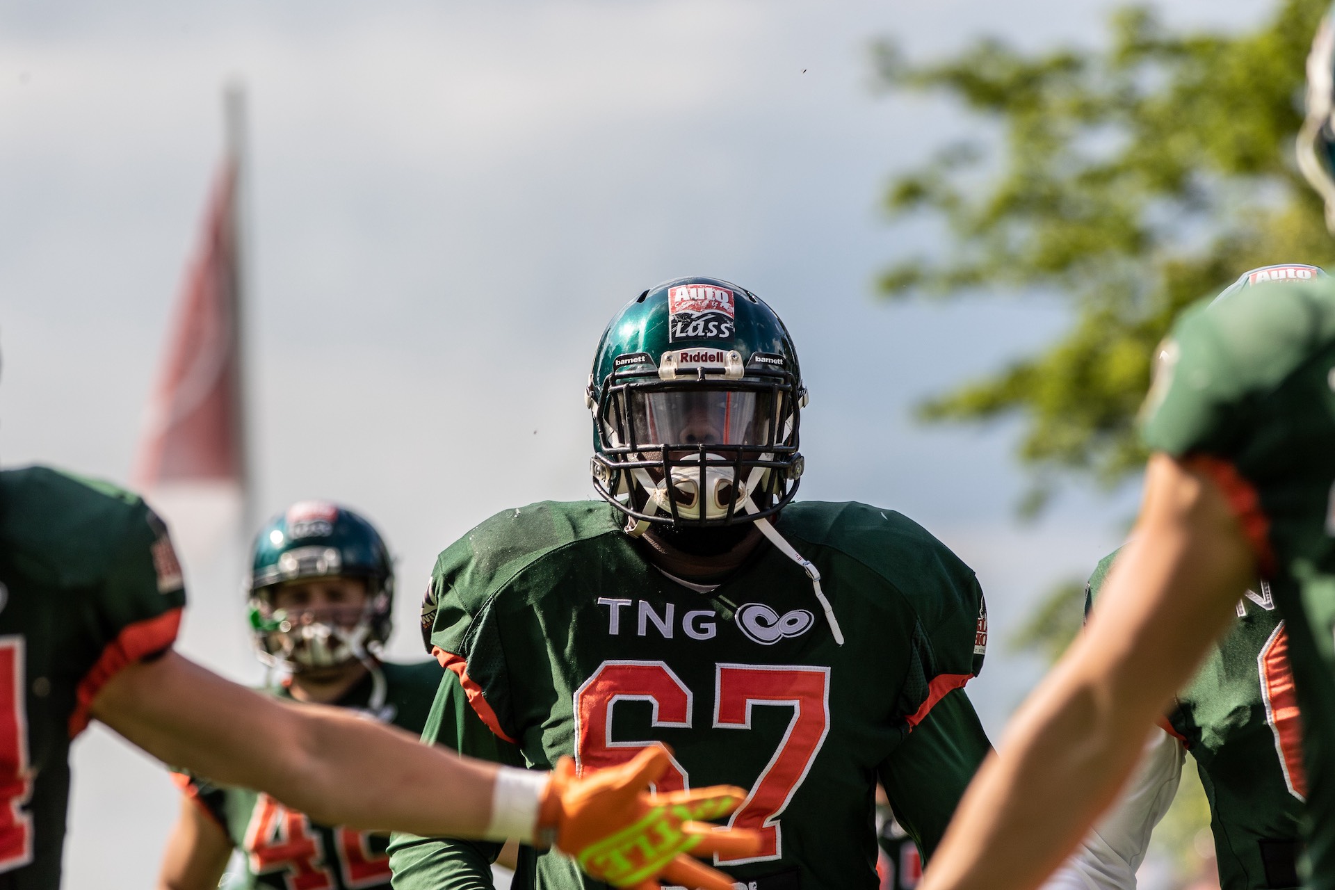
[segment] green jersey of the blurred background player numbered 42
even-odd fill
[[[368,710],[374,691],[370,674],[335,705],[421,733],[441,685],[441,666],[382,662],[380,670],[384,703],[379,709]],[[286,687],[270,691],[291,699]],[[232,846],[244,853],[246,873],[230,887],[387,890],[390,886],[387,834],[314,823],[270,795],[248,789],[180,774],[178,783],[227,833]]]

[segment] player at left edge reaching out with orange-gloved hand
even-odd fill
[[[91,719],[320,822],[527,835],[637,890],[657,874],[728,890],[684,853],[758,843],[694,822],[728,813],[740,789],[641,791],[670,766],[662,751],[585,779],[561,763],[506,770],[230,683],[172,651],[183,604],[171,540],[139,498],[44,467],[0,472],[0,887],[59,886],[69,742]]]

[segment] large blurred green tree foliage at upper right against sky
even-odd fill
[[[1171,33],[1124,8],[1099,49],[981,40],[914,63],[877,48],[884,85],[944,93],[980,132],[892,181],[893,217],[936,216],[948,236],[888,268],[880,291],[1072,308],[1056,342],[920,406],[929,420],[1021,418],[1027,508],[1072,478],[1111,488],[1139,472],[1149,356],[1183,306],[1256,266],[1335,256],[1292,148],[1327,7],[1278,0],[1244,33]]]

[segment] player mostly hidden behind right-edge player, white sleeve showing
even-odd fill
[[[1300,263],[1247,272],[1218,299],[1256,284],[1324,279]],[[1095,607],[1113,560],[1105,556],[1085,587]],[[1302,727],[1294,703],[1288,636],[1275,608],[1271,582],[1254,579],[1238,600],[1232,628],[1177,691],[1135,778],[1047,890],[1123,890],[1136,886],[1155,825],[1177,790],[1184,751],[1196,761],[1210,803],[1215,861],[1223,890],[1296,887],[1302,846],[1299,819],[1307,793]]]

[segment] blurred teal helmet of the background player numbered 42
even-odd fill
[[[364,603],[283,610],[275,591],[311,578],[359,578]],[[272,667],[331,667],[379,654],[390,636],[394,566],[384,539],[360,515],[327,500],[302,500],[255,536],[246,584],[255,648]]]

